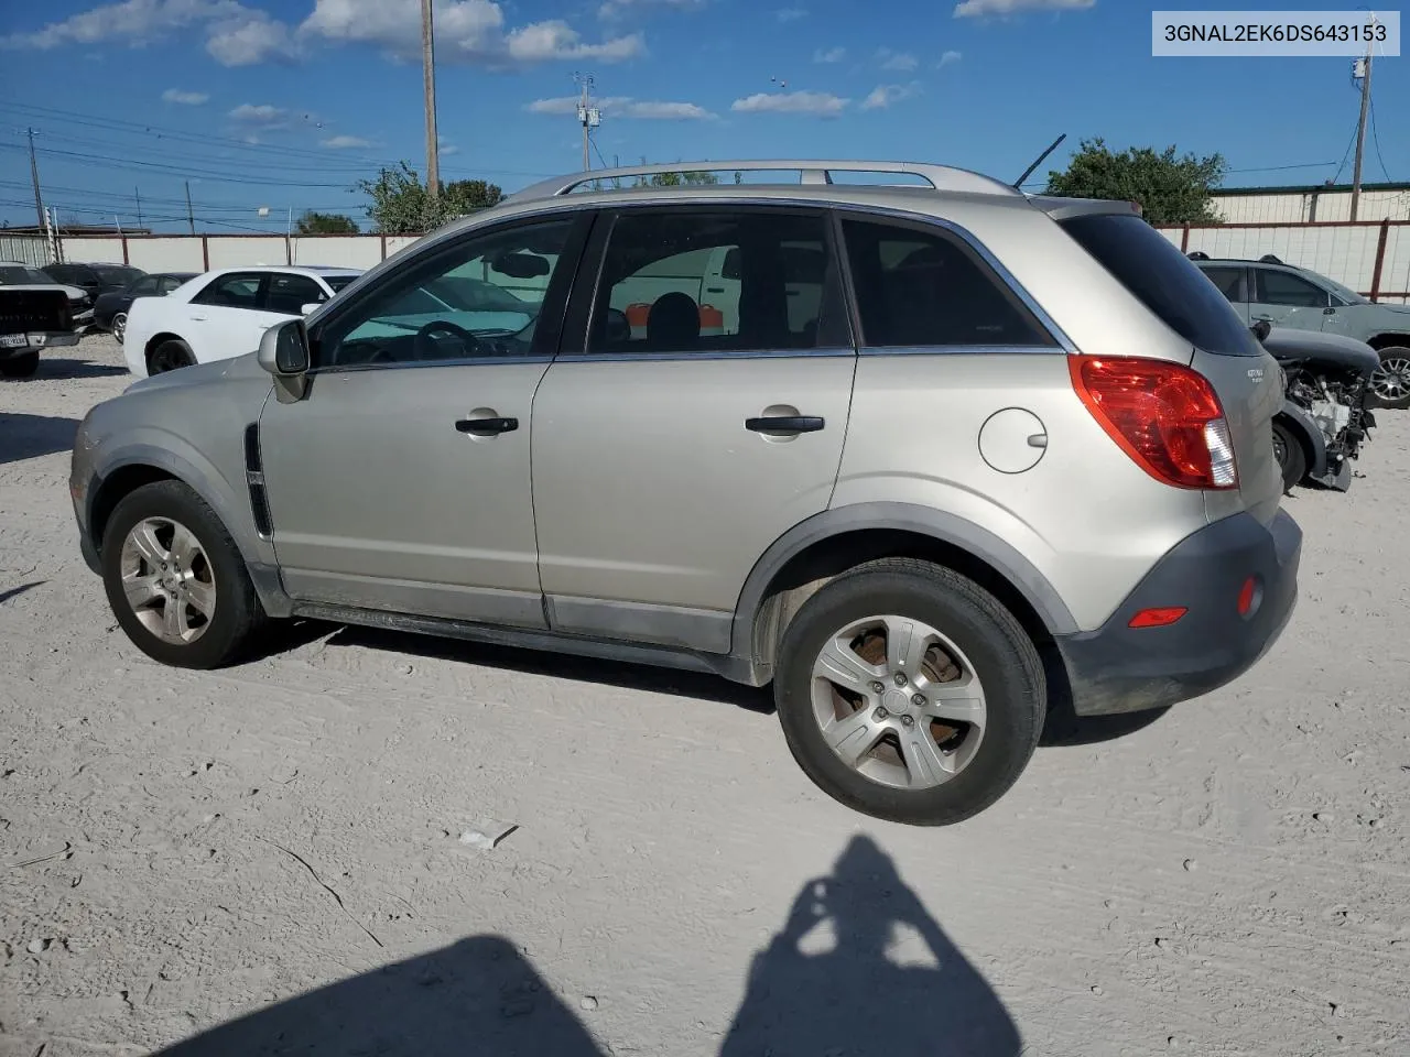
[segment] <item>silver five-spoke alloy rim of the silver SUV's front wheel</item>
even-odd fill
[[[171,645],[190,645],[216,614],[216,575],[200,540],[180,521],[144,517],[123,540],[123,595],[142,627]]]

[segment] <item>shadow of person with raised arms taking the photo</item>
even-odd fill
[[[1021,1049],[994,989],[891,858],[857,836],[829,877],[804,885],[784,929],[754,956],[721,1057],[1014,1057]]]

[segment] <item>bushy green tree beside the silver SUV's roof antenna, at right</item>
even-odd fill
[[[1083,140],[1066,172],[1048,173],[1048,193],[1136,202],[1152,224],[1217,224],[1211,192],[1228,163],[1220,154],[1176,155],[1175,147],[1127,148],[1117,154],[1098,137]]]

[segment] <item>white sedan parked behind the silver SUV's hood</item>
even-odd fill
[[[357,279],[357,268],[257,266],[204,272],[127,313],[123,358],[138,378],[254,352],[276,323],[306,316]]]

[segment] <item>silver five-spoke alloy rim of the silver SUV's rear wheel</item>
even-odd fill
[[[963,772],[988,719],[984,686],[953,640],[895,614],[856,620],[828,637],[814,662],[811,702],[842,762],[909,791]]]

